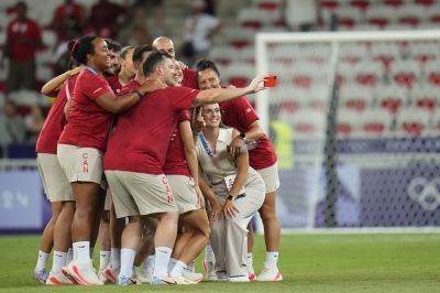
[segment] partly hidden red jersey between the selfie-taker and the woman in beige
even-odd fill
[[[163,167],[165,175],[184,175],[191,176],[185,156],[185,148],[182,141],[179,124],[189,121],[189,113],[187,110],[180,111],[177,119],[176,137],[169,142],[168,151],[166,152],[165,165]]]

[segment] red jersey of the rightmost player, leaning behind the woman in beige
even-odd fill
[[[220,104],[220,111],[223,123],[238,129],[240,132],[246,132],[249,126],[260,119],[245,97]],[[263,134],[260,144],[254,150],[249,151],[249,165],[255,170],[261,170],[272,166],[276,161],[275,149],[266,134]]]

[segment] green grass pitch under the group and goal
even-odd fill
[[[284,235],[278,261],[282,282],[205,281],[176,286],[42,285],[32,280],[38,243],[37,236],[0,236],[0,292],[440,292],[440,234]],[[264,260],[264,240],[257,236],[255,271],[262,270]]]

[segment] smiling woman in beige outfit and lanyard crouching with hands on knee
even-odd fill
[[[206,128],[199,134],[196,151],[212,186],[209,188],[200,176],[201,192],[211,205],[209,241],[216,254],[217,280],[249,282],[246,226],[264,202],[265,185],[249,166],[248,151],[230,156],[228,145],[240,132],[221,123],[219,105],[206,105],[200,111]]]

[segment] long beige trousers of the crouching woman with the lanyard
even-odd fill
[[[235,217],[211,223],[211,243],[216,254],[216,272],[219,278],[233,278],[248,275],[248,224],[252,216],[263,205],[265,187],[258,174],[250,174],[244,184],[246,195],[235,199],[234,204],[240,210]],[[212,186],[217,198],[223,204],[228,197],[226,183]]]

